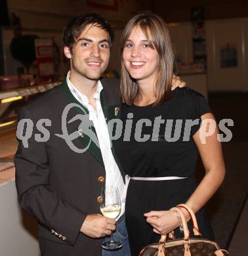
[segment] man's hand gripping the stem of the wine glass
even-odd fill
[[[87,215],[81,232],[91,238],[102,238],[110,235],[115,230],[115,219],[110,219],[98,214]]]

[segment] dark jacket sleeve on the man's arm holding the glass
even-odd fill
[[[28,108],[22,108],[18,117],[19,121],[30,119],[34,124],[28,147],[18,139],[18,149],[14,156],[18,202],[22,209],[33,215],[49,232],[74,245],[87,214],[65,202],[51,190],[46,145],[45,142],[35,141],[33,116]],[[26,128],[26,133],[27,131]]]

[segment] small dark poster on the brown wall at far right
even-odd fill
[[[235,43],[227,43],[226,45],[220,47],[220,67],[238,67],[238,50]]]

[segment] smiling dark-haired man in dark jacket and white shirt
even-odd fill
[[[66,79],[20,112],[18,127],[31,120],[33,133],[26,144],[20,141],[14,158],[18,200],[39,223],[43,256],[128,256],[125,204],[116,223],[100,215],[102,186],[112,184],[120,195],[124,188],[106,124],[119,115],[119,82],[100,79],[114,33],[98,14],[85,14],[66,25],[63,42],[70,60]],[[112,231],[123,247],[102,250],[101,238]]]

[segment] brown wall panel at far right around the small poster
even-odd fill
[[[248,20],[211,20],[206,28],[209,91],[248,91]],[[227,43],[238,51],[238,66],[221,68],[220,51]]]

